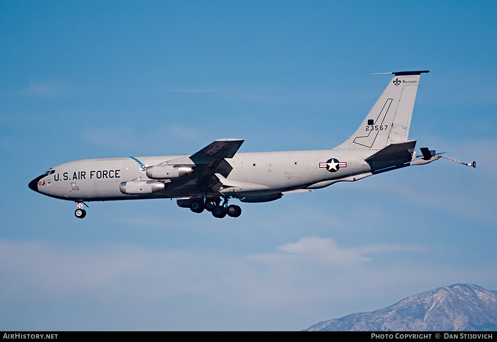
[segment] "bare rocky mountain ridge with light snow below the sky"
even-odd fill
[[[305,331],[496,331],[497,291],[454,284],[387,308],[319,322]]]

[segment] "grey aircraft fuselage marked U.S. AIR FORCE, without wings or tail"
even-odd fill
[[[345,150],[238,153],[226,159],[233,168],[226,179],[239,186],[224,193],[237,197],[279,193],[366,173],[370,171],[364,161],[368,155],[369,151]],[[45,195],[71,201],[219,195],[211,189],[199,191],[196,183],[188,184],[189,175],[171,179],[164,190],[156,193],[131,195],[120,191],[119,185],[123,181],[136,178],[153,180],[145,174],[148,166],[181,157],[184,156],[77,160],[53,167],[47,171],[49,174],[37,180],[36,186]],[[331,171],[325,165],[330,159],[339,162]],[[177,182],[182,186],[170,186]]]

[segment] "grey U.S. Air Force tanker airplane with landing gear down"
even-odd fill
[[[237,153],[244,140],[219,139],[192,155],[72,161],[49,169],[28,186],[74,201],[78,218],[86,215],[84,202],[148,198],[175,198],[182,208],[224,218],[242,213],[240,206],[228,205],[232,198],[269,202],[428,164],[444,156],[421,148],[418,157],[416,141],[408,140],[419,78],[428,72],[384,73],[393,74],[393,79],[371,111],[353,135],[331,150]],[[465,165],[476,168],[476,162]]]

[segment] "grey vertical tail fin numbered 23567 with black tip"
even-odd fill
[[[428,71],[394,74],[357,131],[333,150],[381,150],[408,140],[419,76]],[[379,75],[379,74],[374,74]]]

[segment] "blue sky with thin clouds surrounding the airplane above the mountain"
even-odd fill
[[[1,330],[301,330],[454,283],[497,289],[492,1],[1,1]],[[440,160],[243,204],[71,202],[76,159],[328,149],[390,76]]]

